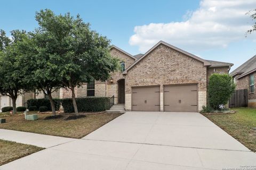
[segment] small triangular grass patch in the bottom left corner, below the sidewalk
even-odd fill
[[[15,159],[33,154],[42,149],[44,148],[0,140],[0,166],[12,162]]]

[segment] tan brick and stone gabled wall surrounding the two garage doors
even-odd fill
[[[125,106],[131,109],[131,87],[198,83],[198,110],[206,105],[206,66],[165,45],[159,45],[130,69],[125,81]],[[163,98],[163,97],[162,97]],[[161,102],[163,109],[163,101]]]

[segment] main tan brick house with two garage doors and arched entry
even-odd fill
[[[207,61],[163,41],[145,54],[131,55],[112,46],[121,70],[106,82],[93,81],[76,88],[77,97],[115,96],[127,111],[198,112],[206,105],[212,73],[228,73],[231,63]],[[71,97],[66,89],[60,98]]]

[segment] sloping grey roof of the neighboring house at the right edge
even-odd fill
[[[256,55],[254,55],[252,58],[247,60],[245,63],[243,63],[241,66],[237,67],[233,72],[230,73],[231,76],[234,76],[236,74],[241,74],[237,79],[244,77],[247,74],[250,74],[252,72],[256,71]]]

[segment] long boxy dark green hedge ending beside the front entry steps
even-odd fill
[[[108,97],[76,98],[78,112],[100,112],[109,109]],[[65,113],[73,113],[74,107],[71,98],[62,99]]]

